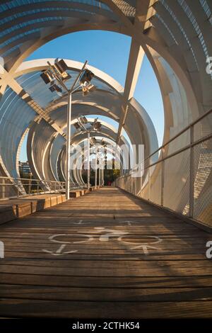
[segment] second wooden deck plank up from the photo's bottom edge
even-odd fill
[[[1,285],[0,298],[30,300],[70,300],[100,302],[182,302],[212,300],[212,287],[207,288],[70,288],[61,286]]]

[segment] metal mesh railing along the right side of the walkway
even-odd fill
[[[212,227],[212,110],[146,157],[114,185]],[[153,156],[160,152],[156,162]]]

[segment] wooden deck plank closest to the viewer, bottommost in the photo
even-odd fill
[[[0,313],[7,317],[54,318],[179,318],[211,317],[211,301],[194,302],[70,302],[1,299]]]

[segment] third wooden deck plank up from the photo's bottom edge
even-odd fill
[[[18,284],[31,286],[64,286],[79,288],[206,288],[212,287],[212,276],[163,276],[163,277],[102,277],[57,276],[52,278],[32,274],[0,274],[1,286]],[[9,295],[9,293],[8,293]]]

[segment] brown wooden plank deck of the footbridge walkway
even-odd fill
[[[117,188],[0,225],[1,317],[212,317],[212,235]]]

